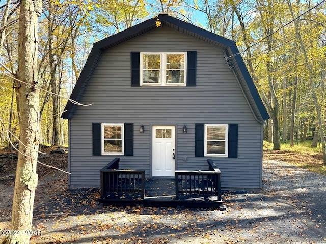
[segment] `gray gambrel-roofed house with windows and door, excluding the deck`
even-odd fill
[[[99,170],[147,178],[206,170],[223,188],[262,187],[269,118],[235,42],[167,14],[94,44],[62,117],[69,120],[70,187],[99,186]]]

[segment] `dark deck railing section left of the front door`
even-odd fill
[[[145,171],[120,169],[119,158],[115,158],[101,170],[101,198],[124,197],[125,194],[145,197]]]

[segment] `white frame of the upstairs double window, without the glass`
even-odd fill
[[[161,77],[159,83],[143,83],[143,55],[160,55],[160,71]],[[183,54],[184,55],[184,83],[167,83],[166,71],[167,71],[167,55],[169,54]],[[187,52],[141,52],[140,53],[140,80],[141,86],[186,86],[187,84]]]

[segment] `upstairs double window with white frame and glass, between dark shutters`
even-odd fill
[[[141,85],[186,85],[186,52],[140,53]]]

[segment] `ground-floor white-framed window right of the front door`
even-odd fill
[[[229,125],[205,124],[205,156],[228,157]]]

